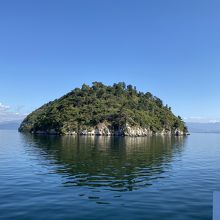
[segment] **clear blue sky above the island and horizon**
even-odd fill
[[[0,1],[0,121],[82,83],[124,81],[220,121],[220,1]]]

